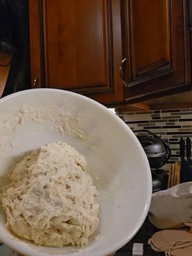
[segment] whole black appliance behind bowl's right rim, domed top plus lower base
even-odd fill
[[[152,186],[153,192],[163,190],[167,188],[168,174],[164,172],[163,165],[168,163],[168,159],[171,155],[171,150],[166,143],[148,130],[134,131],[137,133],[137,138],[143,147],[145,154],[148,158],[152,172]]]

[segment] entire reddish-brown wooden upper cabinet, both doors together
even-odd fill
[[[116,106],[191,86],[186,0],[29,0],[29,17],[32,87]]]

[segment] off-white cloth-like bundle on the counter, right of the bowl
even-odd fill
[[[181,228],[192,223],[192,182],[158,191],[152,195],[148,219],[157,228]]]

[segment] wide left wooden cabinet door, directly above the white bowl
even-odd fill
[[[123,100],[117,76],[122,60],[120,0],[29,3],[32,80],[40,76],[39,86],[88,94],[100,102]]]

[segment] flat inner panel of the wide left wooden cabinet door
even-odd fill
[[[47,86],[111,90],[105,4],[100,0],[44,1]]]

